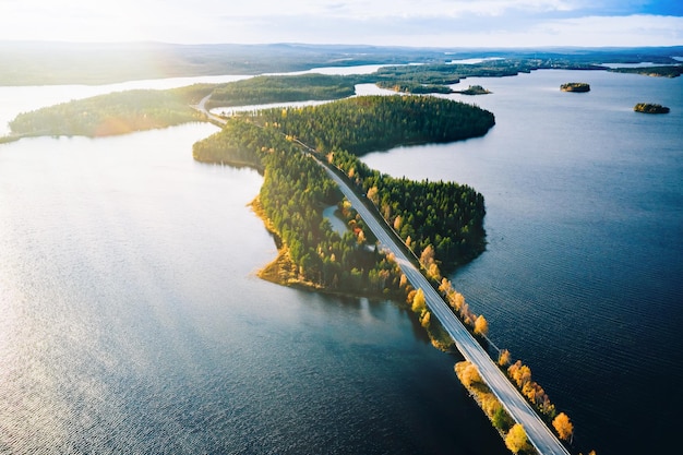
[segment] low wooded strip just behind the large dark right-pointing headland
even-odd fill
[[[356,94],[357,81],[325,74],[262,75],[216,88],[208,107],[339,99]]]

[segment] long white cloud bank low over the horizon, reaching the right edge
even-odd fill
[[[224,17],[220,27],[241,43],[373,44],[412,47],[675,46],[683,19],[673,16],[534,17],[338,16]],[[257,31],[254,33],[254,31]],[[225,35],[221,37],[225,39]]]

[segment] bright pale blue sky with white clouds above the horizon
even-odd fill
[[[683,0],[0,0],[0,40],[679,46]]]

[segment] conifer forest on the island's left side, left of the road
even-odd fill
[[[264,170],[259,204],[287,255],[277,272],[280,283],[351,294],[398,291],[397,264],[371,246],[372,237],[350,206],[340,204],[349,230],[339,236],[332,229],[322,213],[340,203],[338,188],[276,127],[231,118],[223,131],[196,143],[193,154],[204,161],[252,163]]]

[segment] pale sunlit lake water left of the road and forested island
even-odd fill
[[[410,312],[255,276],[263,180],[192,159],[216,131],[0,145],[0,453],[506,454]]]

